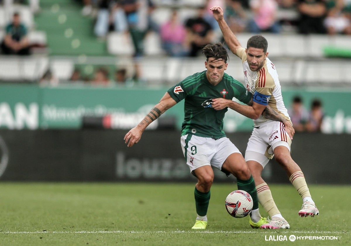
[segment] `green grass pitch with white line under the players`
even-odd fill
[[[1,182],[0,245],[351,245],[350,185],[310,185],[314,218],[298,216],[293,186],[271,185],[291,226],[280,230],[232,218],[224,200],[236,188],[214,183],[206,231],[193,231],[194,184]]]

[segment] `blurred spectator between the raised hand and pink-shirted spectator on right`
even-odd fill
[[[233,33],[240,33],[245,31],[247,20],[245,10],[241,5],[240,0],[226,0],[224,18]]]

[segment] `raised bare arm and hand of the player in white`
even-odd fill
[[[237,39],[237,37],[234,35],[232,30],[230,30],[227,22],[225,22],[224,17],[223,17],[223,9],[219,6],[213,6],[210,8],[210,10],[213,13],[214,19],[217,20],[219,28],[223,34],[224,41],[230,48],[231,52],[233,54],[237,55],[237,49],[241,48],[241,45]]]

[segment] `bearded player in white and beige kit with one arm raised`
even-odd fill
[[[291,122],[283,102],[276,68],[267,57],[267,40],[261,35],[254,35],[247,41],[247,48],[243,48],[225,22],[223,9],[214,6],[211,11],[219,24],[226,44],[233,54],[243,62],[246,88],[254,94],[253,103],[268,104],[287,121]],[[283,218],[274,203],[269,186],[261,177],[263,168],[273,156],[286,171],[290,182],[303,199],[302,208],[298,212],[299,216],[318,215],[319,211],[311,198],[304,174],[298,164],[291,158],[291,139],[285,130],[284,124],[265,118],[261,115],[261,112],[256,112],[247,105],[241,105],[230,100],[221,100],[218,103],[254,119],[254,129],[247,143],[245,160],[255,180],[258,200],[271,217],[271,221],[262,225],[261,228],[290,228],[289,223]]]

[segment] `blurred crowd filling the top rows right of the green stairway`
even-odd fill
[[[185,20],[179,18],[178,1],[158,1],[172,8],[164,23],[154,21],[157,6],[152,0],[82,0],[82,14],[96,18],[94,33],[99,38],[109,31],[130,33],[135,56],[143,55],[143,39],[150,31],[159,33],[169,56],[197,56],[218,30],[209,10],[214,5],[224,8],[234,33],[280,33],[282,24],[288,24],[300,34],[351,34],[351,0],[206,0],[197,15]],[[282,9],[295,12],[296,18],[279,15]]]

